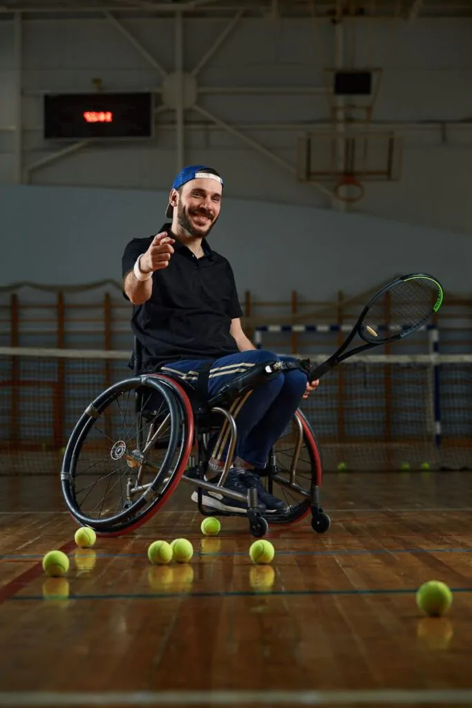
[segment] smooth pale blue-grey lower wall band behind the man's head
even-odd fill
[[[158,232],[166,192],[97,188],[0,187],[4,258],[0,283],[81,284],[120,280],[129,239]],[[209,236],[231,261],[241,299],[335,299],[392,275],[437,275],[449,292],[470,295],[472,239],[379,217],[225,198]],[[8,253],[8,255],[7,255]],[[453,258],[451,256],[454,256]]]

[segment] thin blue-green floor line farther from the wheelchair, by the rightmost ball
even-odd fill
[[[451,593],[472,593],[472,588],[450,588]],[[112,595],[68,595],[64,600],[154,600],[161,598],[251,598],[259,595],[313,597],[341,595],[415,595],[418,588],[378,588],[369,590],[208,590],[195,593],[117,593]],[[7,602],[44,600],[42,595],[13,595]],[[52,600],[58,598],[51,598]]]

